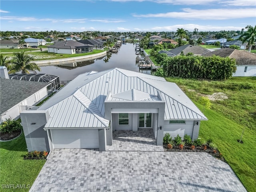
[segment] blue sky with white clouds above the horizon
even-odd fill
[[[1,0],[1,31],[241,30],[256,0]]]

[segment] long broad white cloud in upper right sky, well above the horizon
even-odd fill
[[[200,20],[225,20],[237,18],[255,17],[255,9],[207,9],[195,10],[190,8],[182,9],[183,12],[168,12],[158,14],[133,14],[134,17],[143,18],[179,18],[179,19],[200,19]],[[239,13],[239,14],[238,14]]]

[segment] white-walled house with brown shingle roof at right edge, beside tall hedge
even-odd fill
[[[246,50],[236,50],[231,48],[224,48],[204,54],[204,56],[213,55],[234,58],[236,60],[236,72],[232,75],[233,77],[256,76],[256,54]]]

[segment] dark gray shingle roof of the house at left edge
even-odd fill
[[[47,85],[49,83],[0,78],[0,114]]]

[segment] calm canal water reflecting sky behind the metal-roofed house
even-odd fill
[[[70,81],[76,76],[90,71],[103,71],[111,68],[122,68],[150,74],[149,70],[139,70],[136,64],[135,44],[122,44],[118,53],[108,53],[107,56],[95,60],[77,63],[77,67],[44,66],[38,73],[60,76],[60,81]]]

